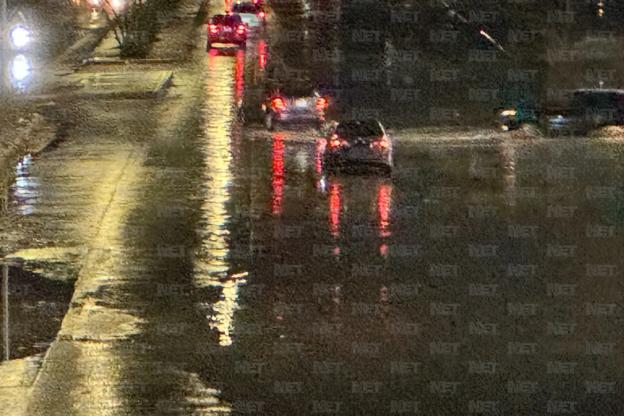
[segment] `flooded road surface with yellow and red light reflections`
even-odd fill
[[[76,284],[24,414],[613,413],[621,146],[402,135],[392,177],[329,176],[203,47],[17,167],[2,245],[79,264],[38,277]]]

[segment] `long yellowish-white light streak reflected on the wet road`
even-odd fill
[[[202,310],[212,309],[207,315],[210,327],[219,332],[219,344],[232,345],[234,314],[238,310],[238,289],[246,283],[246,272],[228,277],[230,267],[228,257],[230,247],[227,229],[230,215],[226,204],[230,201],[232,184],[232,102],[224,99],[233,97],[236,91],[231,82],[236,77],[232,58],[217,57],[210,53],[208,57],[206,90],[207,97],[203,107],[205,120],[205,142],[202,144],[205,160],[207,189],[202,206],[203,224],[200,233],[203,236],[202,249],[194,260],[195,282],[199,287],[220,287],[222,294],[215,304],[200,304]],[[231,99],[231,98],[230,98]]]

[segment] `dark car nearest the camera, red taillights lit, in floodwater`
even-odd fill
[[[392,173],[392,139],[377,120],[336,123],[329,131],[323,166],[381,167]]]

